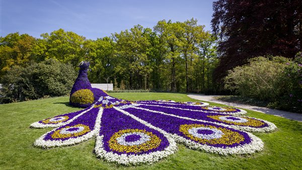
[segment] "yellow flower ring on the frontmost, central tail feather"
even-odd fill
[[[133,144],[133,145],[127,145],[122,144],[118,142],[118,138],[122,137],[122,135],[131,135],[131,134],[144,134],[144,136],[147,136],[148,139],[139,139],[140,141],[138,143],[141,144]],[[112,150],[118,151],[118,152],[133,152],[138,153],[142,151],[148,151],[150,149],[157,148],[161,144],[161,139],[153,134],[152,132],[147,132],[146,130],[140,130],[140,129],[125,129],[120,130],[112,135],[110,140],[108,141],[109,147]]]

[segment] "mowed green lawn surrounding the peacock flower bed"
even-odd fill
[[[126,100],[196,101],[185,94],[173,93],[110,95]],[[30,124],[80,110],[70,107],[68,100],[68,97],[59,97],[0,105],[0,169],[302,169],[302,123],[253,111],[248,111],[247,116],[270,121],[278,130],[254,133],[263,140],[265,147],[251,155],[221,156],[178,144],[175,154],[154,164],[121,166],[96,157],[93,153],[95,138],[73,146],[34,147],[34,141],[52,128],[33,129]]]

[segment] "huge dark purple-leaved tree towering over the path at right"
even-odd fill
[[[302,49],[299,0],[219,0],[213,3],[213,32],[219,36],[216,79],[249,58],[280,55],[294,58]]]

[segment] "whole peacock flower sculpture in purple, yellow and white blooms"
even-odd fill
[[[177,143],[221,155],[261,151],[262,140],[250,132],[270,132],[273,123],[242,116],[231,107],[201,102],[127,101],[91,87],[88,62],[80,64],[70,105],[85,109],[47,118],[34,128],[54,127],[35,142],[42,148],[74,145],[96,137],[95,153],[124,165],[154,163],[177,151]]]

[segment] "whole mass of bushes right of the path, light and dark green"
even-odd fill
[[[238,66],[224,78],[227,90],[262,101],[269,106],[301,112],[301,61],[284,57],[256,57],[248,65]]]

